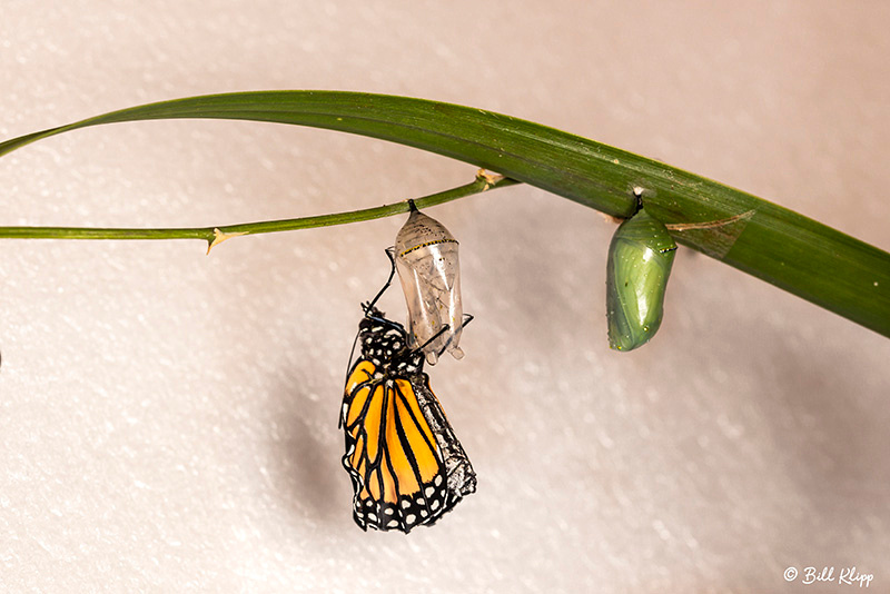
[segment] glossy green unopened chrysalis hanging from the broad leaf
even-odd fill
[[[617,228],[606,268],[610,347],[633,350],[655,336],[675,251],[664,225],[643,209]]]

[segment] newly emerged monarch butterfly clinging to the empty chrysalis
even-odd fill
[[[474,493],[476,475],[429,388],[424,345],[411,348],[404,326],[374,305],[394,274],[395,263],[383,289],[362,306],[362,354],[347,374],[339,425],[356,524],[407,534]]]

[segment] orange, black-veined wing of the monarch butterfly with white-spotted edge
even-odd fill
[[[363,529],[407,533],[435,522],[462,494],[448,489],[442,451],[415,392],[423,384],[375,377],[376,370],[365,358],[356,362],[340,413],[353,517]]]

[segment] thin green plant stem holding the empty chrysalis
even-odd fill
[[[504,177],[478,175],[471,184],[458,186],[449,190],[431,194],[414,200],[417,208],[428,208],[474,194],[503,188],[518,184]],[[400,201],[363,210],[350,210],[334,215],[317,217],[300,217],[295,219],[266,220],[259,222],[244,222],[239,225],[219,225],[216,227],[176,227],[160,229],[125,229],[125,228],[93,228],[93,227],[0,227],[0,238],[7,239],[202,239],[209,246],[221,240],[239,236],[270,234],[278,231],[294,231],[314,227],[329,227],[363,220],[378,219],[407,212],[408,202]],[[209,249],[208,249],[209,251]]]

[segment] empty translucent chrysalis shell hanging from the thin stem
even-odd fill
[[[429,365],[435,365],[445,350],[459,359],[464,356],[457,346],[464,307],[457,240],[439,221],[417,210],[413,201],[408,204],[412,212],[396,235],[395,259],[408,305],[412,346],[426,345],[424,353]],[[445,325],[448,328],[442,331]],[[442,334],[432,339],[438,333]]]

